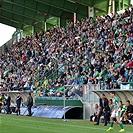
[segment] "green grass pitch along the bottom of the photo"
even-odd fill
[[[100,123],[88,120],[47,119],[41,117],[28,117],[16,115],[0,115],[0,133],[108,133],[107,127]],[[125,133],[133,133],[133,125],[124,125]],[[114,130],[109,133],[117,133],[120,130],[118,124],[114,124]]]

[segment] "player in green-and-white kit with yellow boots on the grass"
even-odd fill
[[[124,132],[125,129],[123,128],[123,124],[122,124],[122,122],[120,120],[121,113],[122,113],[122,110],[121,110],[122,103],[120,102],[120,98],[115,96],[115,92],[114,91],[110,92],[110,96],[111,96],[111,98],[113,100],[114,110],[113,110],[113,112],[111,114],[110,127],[109,127],[109,129],[107,131],[113,130],[113,124],[114,124],[113,118],[116,118],[117,122],[119,123],[120,128],[121,128],[121,130],[119,132]]]

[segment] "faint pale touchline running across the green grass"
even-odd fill
[[[4,117],[5,118],[5,117]],[[9,119],[10,117],[8,117]],[[94,130],[102,130],[102,131],[106,131],[106,129],[101,129],[101,128],[93,128],[93,127],[85,127],[85,126],[76,126],[76,125],[66,125],[66,124],[61,124],[61,123],[53,123],[53,122],[46,122],[46,121],[35,121],[35,120],[29,120],[29,119],[17,119],[17,118],[10,118],[13,120],[18,120],[18,121],[27,121],[27,122],[40,122],[40,123],[45,123],[45,124],[53,124],[53,125],[62,125],[62,126],[69,126],[69,127],[76,127],[76,128],[88,128],[88,129],[94,129]],[[114,130],[115,131],[115,130]],[[126,133],[132,133],[132,132],[126,132]]]

